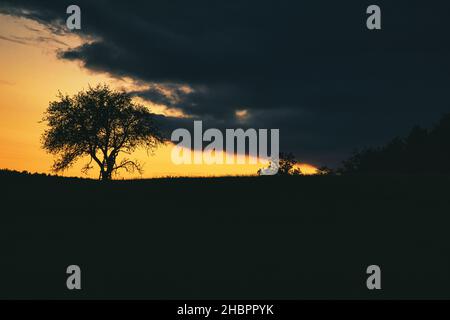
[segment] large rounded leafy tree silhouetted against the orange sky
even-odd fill
[[[138,147],[153,151],[164,141],[147,108],[132,102],[130,94],[107,85],[89,87],[72,97],[59,93],[42,120],[49,127],[42,135],[42,147],[58,156],[55,172],[87,156],[90,160],[82,171],[91,169],[94,161],[102,180],[110,180],[120,169],[141,173],[136,160],[125,157],[117,162],[119,154],[129,155]]]

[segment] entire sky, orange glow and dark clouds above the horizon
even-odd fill
[[[48,172],[39,123],[58,91],[108,83],[169,129],[278,128],[303,163],[339,166],[449,111],[445,1],[22,1],[0,4],[0,167]],[[66,8],[81,8],[81,30]],[[145,176],[249,174],[255,166],[175,166]],[[80,175],[80,166],[68,175]]]

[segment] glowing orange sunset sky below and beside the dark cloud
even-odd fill
[[[57,52],[83,43],[76,35],[55,35],[45,26],[24,18],[0,15],[0,168],[50,172],[53,158],[40,146],[40,136],[45,124],[40,123],[48,102],[56,99],[58,90],[74,94],[89,84],[107,83],[113,88],[127,91],[144,87],[130,78],[116,78],[106,73],[92,72],[77,62],[58,59]],[[169,109],[143,99],[152,112],[183,117],[182,111]],[[238,112],[241,117],[245,111]],[[255,174],[261,164],[245,165],[175,165],[170,153],[173,145],[160,147],[154,155],[136,152],[133,157],[145,164],[142,177],[210,176]],[[80,172],[86,160],[80,160],[63,175],[85,176]],[[300,164],[305,173],[314,167]],[[89,177],[97,177],[91,170]],[[122,173],[120,177],[141,177]]]

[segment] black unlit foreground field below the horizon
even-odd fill
[[[0,173],[0,298],[450,298],[450,177]],[[66,267],[82,290],[66,289]],[[366,288],[377,264],[382,290]]]

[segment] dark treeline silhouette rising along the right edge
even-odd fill
[[[415,126],[405,138],[365,148],[343,162],[342,173],[450,173],[450,114],[431,129]]]

